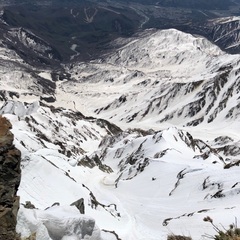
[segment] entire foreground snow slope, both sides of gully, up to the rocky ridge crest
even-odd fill
[[[21,203],[37,208],[21,207],[22,236],[85,239],[82,222],[93,218],[96,230],[86,239],[157,240],[171,232],[200,239],[211,233],[202,222],[206,215],[227,225],[239,214],[234,139],[204,142],[177,128],[122,132],[103,120],[37,104],[9,102],[2,111],[23,154]],[[68,206],[81,198],[84,215]]]

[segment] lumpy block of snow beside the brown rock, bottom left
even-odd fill
[[[94,219],[79,214],[76,207],[53,206],[46,210],[20,209],[18,229],[22,237],[36,233],[37,239],[100,240]]]

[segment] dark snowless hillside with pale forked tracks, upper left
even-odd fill
[[[7,24],[5,28],[21,29],[20,36],[16,36],[17,42],[16,37],[8,36],[18,47],[26,47],[26,41],[21,41],[23,34],[42,45],[41,50],[35,46],[35,58],[45,65],[58,65],[58,61],[68,62],[75,58],[94,59],[111,40],[132,35],[142,19],[131,8],[114,8],[88,1],[11,5],[4,8],[1,18]],[[30,46],[21,50],[26,54],[33,49]],[[33,60],[32,64],[37,64]]]

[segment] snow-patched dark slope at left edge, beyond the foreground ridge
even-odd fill
[[[18,49],[19,50],[19,49]],[[33,102],[40,99],[54,101],[56,84],[49,70],[27,64],[16,49],[10,49],[5,40],[0,40],[0,100]]]

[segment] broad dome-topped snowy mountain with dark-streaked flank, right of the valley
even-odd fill
[[[77,82],[62,83],[60,94],[82,86],[84,91],[75,93],[78,109],[122,125],[227,125],[239,115],[238,69],[238,55],[204,38],[177,30],[149,31],[105,60],[73,67]],[[86,105],[84,98],[89,99]]]

